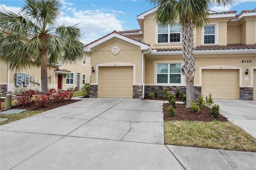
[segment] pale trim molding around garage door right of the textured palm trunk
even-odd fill
[[[239,86],[242,86],[242,67],[233,65],[210,65],[199,68],[199,85],[202,86],[202,69],[239,69]]]

